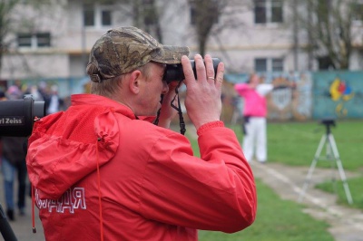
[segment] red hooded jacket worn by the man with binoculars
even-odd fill
[[[182,134],[92,94],[36,121],[26,162],[46,239],[186,241],[249,227],[256,188],[239,140],[200,132],[197,158]]]

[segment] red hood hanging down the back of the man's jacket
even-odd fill
[[[97,164],[101,167],[113,158],[120,134],[115,112],[136,119],[123,104],[98,95],[79,94],[72,96],[68,111],[35,122],[26,163],[40,198],[61,197],[74,183],[97,169]],[[58,125],[64,128],[55,129]]]

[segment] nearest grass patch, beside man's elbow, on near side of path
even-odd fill
[[[328,241],[334,240],[327,232],[326,223],[301,212],[302,206],[281,200],[270,188],[256,180],[258,212],[255,222],[234,234],[200,231],[201,241]]]

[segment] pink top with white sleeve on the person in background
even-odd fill
[[[236,92],[244,99],[243,116],[266,117],[267,104],[265,95],[272,90],[271,84],[259,84],[251,89],[247,83],[238,83],[234,86]]]

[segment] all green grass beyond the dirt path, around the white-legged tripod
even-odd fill
[[[239,140],[243,140],[240,126],[231,126]],[[354,204],[363,209],[363,120],[339,120],[331,133],[337,144],[339,158],[345,171],[358,173],[358,178],[348,178]],[[317,152],[319,141],[326,134],[326,127],[316,122],[284,122],[268,124],[268,156],[270,162],[290,166],[309,167]],[[318,168],[336,167],[334,158],[327,160],[327,150],[320,152]],[[338,176],[340,179],[340,177]],[[317,186],[324,191],[338,194],[338,203],[348,205],[341,181],[334,188],[331,181]]]

